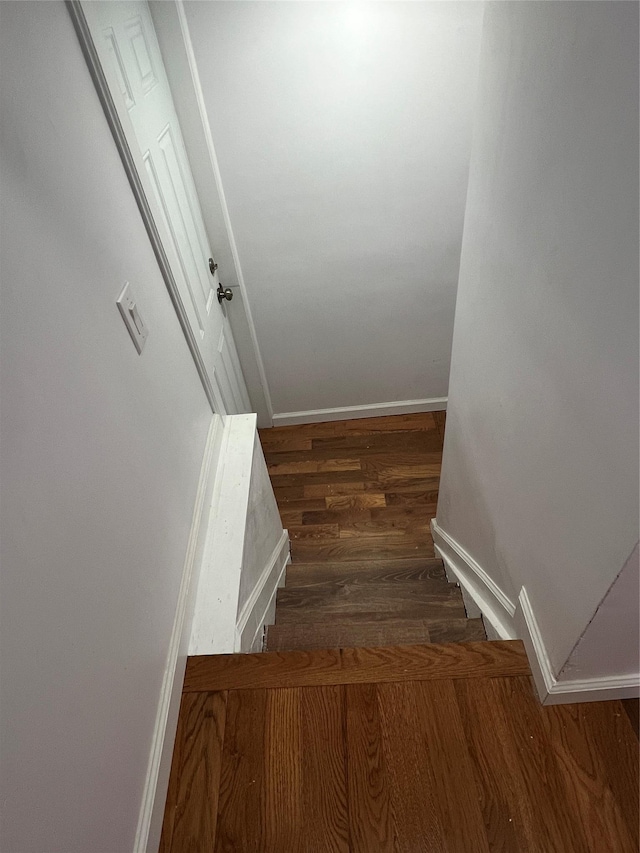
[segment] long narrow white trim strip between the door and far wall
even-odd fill
[[[220,167],[218,165],[218,157],[216,155],[216,149],[213,142],[213,136],[211,134],[211,125],[209,122],[209,116],[207,114],[207,107],[204,101],[204,94],[202,92],[202,85],[200,83],[200,75],[198,73],[198,64],[196,62],[196,57],[193,51],[193,44],[191,42],[191,35],[189,33],[189,24],[187,21],[187,16],[184,10],[184,5],[182,0],[175,0],[176,11],[178,13],[178,20],[180,22],[180,31],[182,32],[182,39],[184,42],[184,48],[187,55],[187,61],[189,63],[189,69],[191,71],[191,79],[193,82],[193,90],[196,96],[196,101],[198,104],[198,110],[200,113],[200,120],[202,122],[202,130],[204,132],[207,151],[209,154],[209,160],[211,169],[213,171],[216,189],[218,191],[218,197],[220,199],[220,208],[222,210],[222,216],[224,218],[225,227],[227,229],[227,236],[229,239],[229,246],[231,248],[231,254],[233,256],[233,263],[236,270],[236,275],[238,279],[238,286],[240,288],[240,293],[242,294],[242,301],[244,304],[245,314],[247,317],[247,325],[249,327],[249,334],[251,336],[251,342],[253,344],[254,356],[256,360],[256,364],[258,366],[258,375],[260,376],[260,382],[262,384],[262,392],[264,394],[265,403],[267,406],[267,411],[269,412],[269,416],[273,417],[273,405],[271,403],[271,393],[269,391],[269,383],[267,382],[267,373],[264,367],[264,361],[262,359],[262,353],[260,352],[260,345],[258,344],[258,335],[256,333],[255,323],[253,321],[253,314],[251,312],[251,306],[249,304],[249,296],[247,294],[247,288],[244,281],[244,275],[242,273],[242,267],[240,265],[240,256],[238,254],[238,247],[236,245],[235,236],[233,234],[233,228],[231,226],[231,218],[229,216],[229,208],[227,207],[227,199],[224,193],[224,187],[222,185],[222,176],[220,175]]]

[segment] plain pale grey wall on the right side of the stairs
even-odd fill
[[[438,524],[556,673],[638,540],[638,7],[486,8]]]

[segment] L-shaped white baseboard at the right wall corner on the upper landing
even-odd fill
[[[572,702],[603,702],[638,696],[640,674],[612,675],[559,681],[551,666],[529,595],[522,587],[518,596],[516,622],[524,642],[538,696],[543,705]]]

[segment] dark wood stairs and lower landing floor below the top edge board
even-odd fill
[[[485,639],[434,558],[444,412],[261,430],[292,564],[271,651]]]

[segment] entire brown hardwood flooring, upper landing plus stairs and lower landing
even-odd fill
[[[262,433],[274,651],[189,658],[162,853],[637,853],[637,705],[543,708],[522,643],[466,618],[429,532],[443,434]]]

